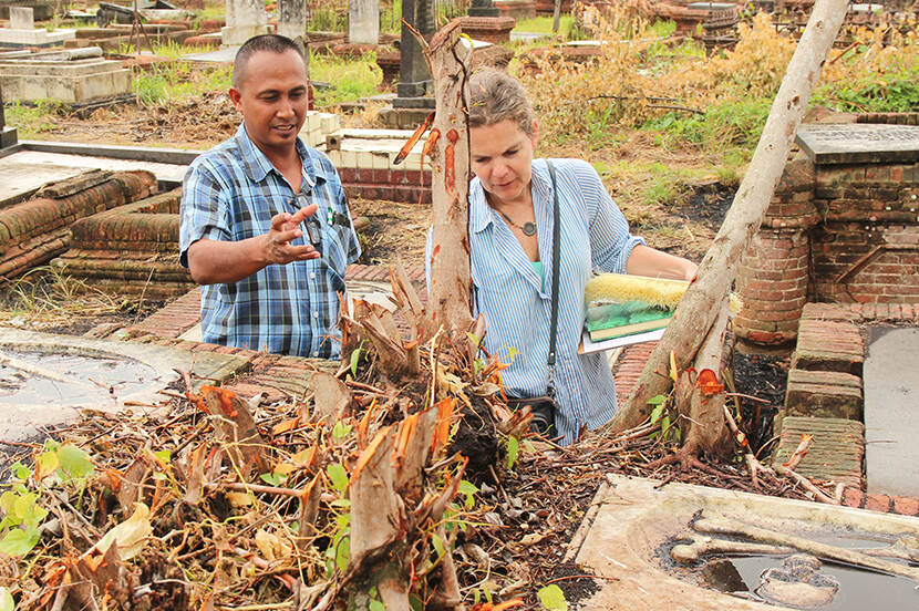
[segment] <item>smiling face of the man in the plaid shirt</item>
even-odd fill
[[[239,87],[229,90],[246,120],[246,133],[266,155],[287,154],[307,115],[307,69],[296,51],[258,51],[249,58]]]

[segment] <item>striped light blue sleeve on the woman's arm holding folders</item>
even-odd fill
[[[607,193],[597,170],[585,164],[581,188],[587,201],[590,257],[596,271],[626,273],[626,261],[644,239],[629,232],[629,221]]]

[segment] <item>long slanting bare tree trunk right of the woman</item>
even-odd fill
[[[677,308],[634,391],[608,425],[613,433],[641,424],[651,413],[648,400],[670,390],[670,377],[665,372],[671,352],[680,370],[695,360],[719,315],[720,309],[714,304],[721,303],[731,289],[741,257],[760,228],[782,177],[795,133],[846,14],[846,0],[817,0],[814,6],[734,204],[702,260],[696,281],[690,284]]]

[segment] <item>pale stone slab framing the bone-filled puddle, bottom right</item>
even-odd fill
[[[675,577],[679,569],[664,560],[664,543],[690,532],[688,525],[699,510],[778,531],[820,540],[854,536],[890,540],[919,534],[919,518],[878,514],[864,509],[764,497],[746,493],[668,484],[608,475],[584,524],[575,534],[566,561],[575,560],[603,578],[600,590],[578,601],[578,609],[632,611],[762,611],[758,602],[720,593]],[[882,545],[882,543],[879,543]],[[670,570],[664,570],[668,567]],[[585,573],[590,573],[585,570]],[[597,580],[600,582],[600,580]],[[892,580],[912,596],[912,582]],[[755,584],[750,584],[753,588]],[[847,592],[868,608],[877,591]],[[882,596],[882,594],[880,594]],[[874,599],[872,599],[874,597]],[[916,593],[919,600],[919,593]],[[778,607],[785,609],[785,607]]]

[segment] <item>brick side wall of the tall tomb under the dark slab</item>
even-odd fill
[[[818,300],[919,303],[919,163],[822,166],[814,204]]]

